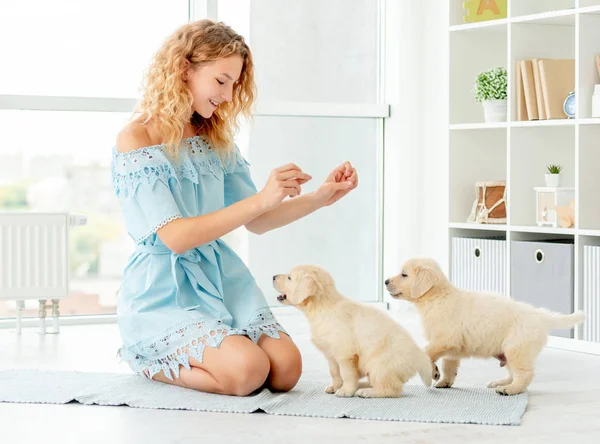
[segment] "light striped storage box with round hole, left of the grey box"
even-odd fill
[[[506,241],[453,237],[451,281],[464,290],[506,294]]]

